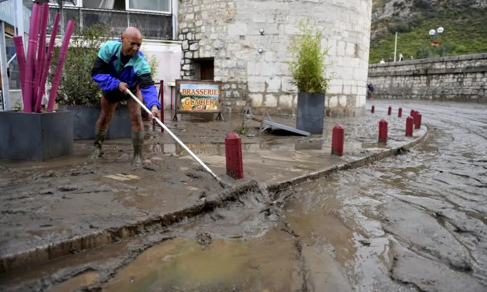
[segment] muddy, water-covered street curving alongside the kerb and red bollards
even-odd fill
[[[487,291],[487,106],[419,110],[421,145],[373,165],[235,201],[0,275],[3,291]]]

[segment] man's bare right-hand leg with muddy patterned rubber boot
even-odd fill
[[[137,91],[135,93],[140,101],[142,101],[142,93]],[[127,107],[130,112],[130,119],[132,122],[132,144],[133,144],[133,166],[141,166],[144,160],[142,156],[142,149],[144,147],[144,124],[142,123],[142,114],[140,113],[139,104],[132,98],[127,100]]]

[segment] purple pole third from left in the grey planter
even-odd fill
[[[42,77],[42,73],[44,71],[44,64],[46,62],[46,29],[47,29],[47,21],[49,20],[48,3],[44,3],[42,5],[41,19],[42,20],[40,22],[39,49],[37,51],[36,80],[34,83],[34,100],[36,101],[36,105],[34,107],[35,112],[40,110],[41,108],[40,103],[42,101],[42,95],[40,95],[39,97],[39,84],[40,84],[40,78]]]

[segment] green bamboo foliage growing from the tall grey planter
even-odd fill
[[[309,18],[300,20],[296,28],[300,34],[293,37],[288,46],[293,60],[286,61],[293,77],[291,84],[301,93],[326,93],[330,78],[325,74],[328,65],[324,60],[328,48],[321,49],[324,29],[314,33],[315,27],[310,25]]]

